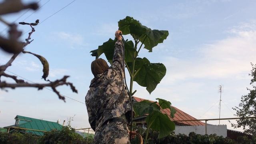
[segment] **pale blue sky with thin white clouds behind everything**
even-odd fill
[[[47,89],[0,90],[0,127],[14,124],[14,117],[21,115],[49,121],[60,119],[61,123],[72,118],[72,127],[89,128],[83,103],[93,78],[90,64],[95,58],[90,56],[90,51],[109,38],[113,39],[118,21],[126,16],[132,16],[151,29],[169,31],[167,39],[154,47],[153,52],[143,49],[139,54],[150,62],[163,63],[166,75],[151,94],[135,82],[133,89],[137,92],[134,96],[148,100],[166,99],[197,119],[218,118],[221,85],[220,118],[236,117],[232,108],[238,106],[242,95],[248,94],[250,63],[256,63],[254,0],[75,0],[54,14],[70,2],[72,0],[39,0],[42,7],[36,12],[24,10],[2,18],[8,22],[17,18],[16,22],[34,22],[36,19],[42,22],[35,27],[34,41],[26,46],[26,51],[48,60],[50,80],[70,76],[68,81],[76,86],[78,94],[67,86],[57,89],[64,96],[82,103],[70,98],[63,102]],[[6,26],[0,23],[2,36],[6,36],[5,29]],[[18,29],[24,32],[20,38],[24,41],[28,36],[25,32],[30,28],[20,25]],[[132,40],[128,35],[124,38]],[[10,57],[0,50],[0,65]],[[103,55],[101,58],[106,59]],[[20,54],[7,70],[7,74],[14,73],[32,82],[45,83],[41,79],[42,64],[31,54]],[[218,121],[208,123],[218,124]],[[227,120],[220,121],[220,124],[234,129]]]

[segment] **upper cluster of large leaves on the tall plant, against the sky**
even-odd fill
[[[128,68],[131,76],[130,95],[133,94],[133,81],[137,82],[140,86],[146,87],[146,90],[151,94],[165,76],[166,68],[164,64],[150,63],[147,58],[137,58],[137,56],[143,45],[149,52],[152,52],[152,48],[162,43],[169,33],[167,30],[151,30],[143,26],[138,20],[134,20],[134,18],[129,16],[120,20],[118,26],[124,35],[131,34],[134,38],[134,42],[126,40],[124,56],[126,68]],[[92,50],[91,55],[98,58],[104,53],[108,62],[112,64],[115,42],[116,40],[110,38],[107,42],[98,46],[98,49]],[[140,44],[140,47],[137,50],[138,44]]]

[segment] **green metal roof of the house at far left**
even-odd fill
[[[48,132],[48,131],[51,131],[53,129],[56,129],[56,130],[61,130],[62,129],[62,125],[58,124],[57,122],[39,120],[39,119],[36,119],[36,118],[29,118],[29,117],[26,117],[26,116],[19,116],[19,115],[17,115],[14,119],[19,120],[18,125],[16,125],[15,127],[31,129],[31,130],[26,130],[25,132],[30,132],[30,133],[35,134],[37,136],[44,135],[44,132],[40,132],[40,131]],[[11,127],[11,126],[9,126],[9,127]]]

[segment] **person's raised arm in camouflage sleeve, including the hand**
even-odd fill
[[[115,44],[115,50],[114,50],[114,56],[113,56],[113,64],[118,66],[120,70],[123,70],[123,59],[124,59],[124,50],[123,50],[123,42],[122,42],[122,36],[120,35],[122,32],[120,30],[116,31],[116,44]]]

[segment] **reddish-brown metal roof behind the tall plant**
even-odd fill
[[[133,96],[133,98],[137,101],[137,102],[141,102],[143,100],[143,98],[138,98]],[[149,100],[150,102],[153,102],[152,100]],[[158,103],[157,103],[158,104]],[[170,118],[172,121],[176,121],[176,120],[196,120],[196,118],[194,118],[193,116],[190,116],[189,114],[187,114],[186,112],[183,112],[182,110],[172,106],[173,108],[175,108],[175,110],[177,111],[174,114],[174,118]],[[170,110],[169,109],[161,109],[161,112],[164,114],[167,114],[168,116],[170,116]],[[191,121],[191,122],[175,122],[176,124],[180,123],[180,124],[186,124],[189,126],[204,126],[204,122],[201,121]]]

